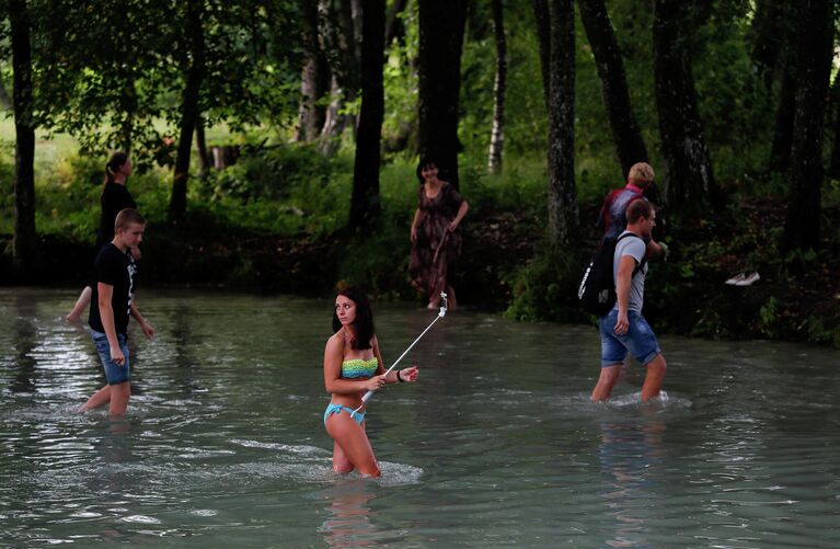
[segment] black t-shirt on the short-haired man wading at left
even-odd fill
[[[111,308],[114,311],[114,328],[117,333],[125,334],[128,331],[128,314],[131,308],[131,296],[134,295],[134,279],[137,274],[137,265],[134,258],[131,258],[131,253],[128,250],[120,252],[119,248],[113,243],[107,243],[102,247],[99,255],[96,255],[94,270],[97,283],[101,282],[114,287],[111,297]],[[102,317],[100,317],[97,284],[93,285],[88,323],[93,330],[105,332],[105,328],[102,325]]]

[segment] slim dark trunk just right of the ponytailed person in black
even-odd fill
[[[186,84],[181,103],[181,135],[175,156],[175,176],[169,204],[170,218],[176,220],[186,214],[186,183],[189,179],[189,155],[193,149],[193,131],[198,124],[198,105],[205,71],[204,28],[202,26],[202,0],[186,2],[186,32],[192,62],[186,72]]]

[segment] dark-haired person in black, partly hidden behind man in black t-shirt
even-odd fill
[[[131,170],[131,160],[125,152],[114,152],[105,164],[105,182],[100,197],[102,213],[100,215],[100,227],[96,230],[96,253],[114,238],[114,219],[116,219],[117,214],[126,208],[137,209],[137,204],[126,187]],[[135,260],[139,261],[140,249],[134,247],[131,255]],[[81,320],[82,312],[91,304],[92,291],[92,286],[85,286],[82,289],[72,310],[65,317],[68,321],[79,322]]]

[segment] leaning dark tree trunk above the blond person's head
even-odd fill
[[[621,49],[603,0],[578,0],[577,4],[601,79],[601,92],[612,128],[612,140],[615,142],[621,171],[626,178],[634,163],[647,162],[648,158],[645,141],[630,104]]]

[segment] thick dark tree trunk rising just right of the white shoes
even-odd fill
[[[799,13],[796,91],[791,148],[791,199],[785,220],[786,249],[819,244],[822,186],[822,118],[833,56],[832,0],[803,0]]]

